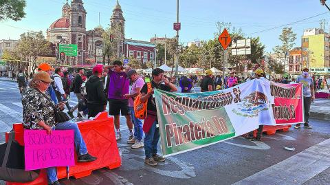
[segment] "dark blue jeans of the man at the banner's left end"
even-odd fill
[[[158,122],[153,122],[153,126],[151,126],[148,133],[145,133],[144,136],[144,152],[146,154],[146,158],[152,157],[157,154],[157,146],[159,141],[159,128],[157,128],[156,124]]]

